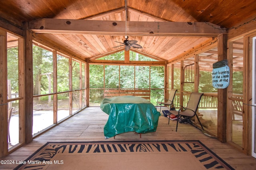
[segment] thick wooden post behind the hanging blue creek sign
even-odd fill
[[[227,34],[218,36],[218,61],[227,59]],[[227,127],[227,89],[218,89],[218,140],[225,143]]]

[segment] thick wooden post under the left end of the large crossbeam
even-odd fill
[[[25,41],[25,143],[33,140],[33,55],[32,32],[28,29],[28,23],[24,23]]]

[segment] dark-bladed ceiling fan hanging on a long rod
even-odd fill
[[[142,48],[141,45],[136,44],[138,41],[136,41],[136,40],[128,40],[128,36],[127,36],[127,0],[125,0],[125,36],[124,36],[124,38],[125,38],[125,40],[124,40],[123,43],[115,41],[117,43],[121,43],[122,44],[122,45],[118,45],[116,47],[125,46],[124,47],[125,51],[129,51],[131,49],[131,47],[137,48],[137,49],[141,49]],[[115,47],[113,47],[113,48],[115,48]]]

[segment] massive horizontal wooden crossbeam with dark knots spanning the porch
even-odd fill
[[[66,20],[44,18],[31,21],[34,33],[68,33],[124,35],[125,21]],[[226,33],[226,29],[206,22],[140,22],[127,21],[127,34],[131,36],[210,36]]]

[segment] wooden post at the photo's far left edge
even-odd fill
[[[8,152],[7,33],[0,29],[0,158]]]

